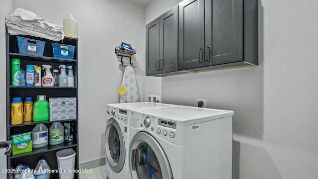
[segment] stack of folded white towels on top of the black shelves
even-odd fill
[[[5,25],[11,35],[32,35],[54,41],[64,38],[63,26],[44,22],[44,18],[22,8],[9,14]]]

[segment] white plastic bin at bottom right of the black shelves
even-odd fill
[[[63,171],[59,172],[60,179],[74,179],[76,153],[73,149],[63,149],[56,152],[58,159],[58,168]]]

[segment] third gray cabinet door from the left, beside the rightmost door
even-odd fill
[[[179,70],[204,66],[204,0],[179,3]]]

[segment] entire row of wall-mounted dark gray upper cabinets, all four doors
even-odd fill
[[[147,76],[257,66],[258,0],[181,1],[146,26],[146,65]]]

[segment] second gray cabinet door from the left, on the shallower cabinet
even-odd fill
[[[178,5],[160,16],[160,72],[178,70]]]

